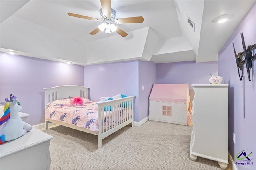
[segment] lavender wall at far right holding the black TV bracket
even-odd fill
[[[236,165],[240,170],[256,170],[256,72],[251,70],[251,79],[248,81],[247,71],[244,65],[244,82],[240,81],[236,68],[236,61],[232,42],[236,53],[242,52],[242,41],[240,33],[243,32],[246,47],[256,43],[256,4],[244,17],[235,31],[232,33],[222,50],[219,52],[218,72],[229,84],[229,152],[235,162],[236,154],[246,150],[246,155],[253,162],[253,165]],[[254,50],[254,54],[256,50]],[[256,61],[252,63],[256,66]],[[243,90],[244,89],[244,90]],[[244,105],[245,100],[245,105]],[[245,118],[244,118],[245,107]],[[236,144],[233,143],[233,134],[236,134]],[[253,159],[254,158],[254,159]],[[247,160],[247,159],[243,159]],[[243,161],[241,160],[241,161]]]

